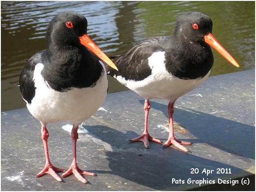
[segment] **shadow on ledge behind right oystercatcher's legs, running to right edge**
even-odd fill
[[[139,102],[143,104],[144,100],[139,100]],[[169,117],[165,104],[151,101],[151,108],[165,114],[166,120],[162,120],[162,123],[168,121]],[[150,118],[149,115],[149,121]],[[192,140],[193,143],[200,142],[209,144],[222,151],[238,155],[245,162],[250,162],[250,159],[255,159],[254,126],[191,109],[185,111],[178,108],[174,110],[173,120],[198,138],[198,140]],[[167,137],[168,135],[166,135],[166,139]]]

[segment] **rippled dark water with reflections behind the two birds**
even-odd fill
[[[255,2],[246,1],[6,1],[1,2],[1,111],[25,107],[19,73],[31,55],[45,48],[47,24],[61,11],[87,17],[88,34],[107,54],[123,53],[141,39],[168,36],[178,15],[200,11],[213,20],[215,38],[240,68],[214,52],[211,75],[255,68]],[[246,78],[246,77],[245,77]],[[109,78],[109,92],[125,90]]]

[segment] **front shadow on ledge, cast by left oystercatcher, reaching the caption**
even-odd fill
[[[216,171],[210,176],[205,174],[191,175],[191,168],[198,168],[202,171],[204,168],[216,170],[217,168],[230,168],[232,174],[244,172],[237,167],[230,166],[222,162],[212,161],[192,154],[187,154],[173,148],[163,149],[161,144],[152,144],[151,148],[146,149],[139,144],[129,144],[127,138],[137,135],[133,131],[121,133],[116,129],[106,126],[84,126],[90,134],[111,145],[113,151],[105,151],[106,159],[109,163],[110,171],[97,171],[97,174],[118,175],[137,183],[156,190],[190,190],[195,186],[186,186],[183,184],[172,184],[172,178],[187,181],[205,179],[216,180],[224,175],[217,175]],[[104,132],[104,135],[102,134]],[[92,171],[92,170],[90,170]],[[230,185],[231,186],[231,185]],[[228,188],[228,186],[227,186]],[[136,188],[135,188],[136,189]],[[122,189],[119,189],[122,190]]]

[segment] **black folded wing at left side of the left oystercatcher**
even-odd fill
[[[35,96],[35,86],[33,81],[34,69],[36,64],[41,63],[41,52],[33,55],[24,66],[19,75],[19,89],[24,100],[27,103],[31,103],[31,100]]]

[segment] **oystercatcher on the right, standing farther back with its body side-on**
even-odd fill
[[[211,18],[199,12],[187,12],[177,18],[172,36],[148,38],[127,53],[110,57],[119,70],[107,68],[107,73],[145,99],[144,132],[130,142],[143,141],[146,148],[149,148],[149,140],[162,143],[148,133],[149,100],[167,99],[169,137],[163,147],[173,144],[181,151],[188,152],[182,144],[191,143],[179,141],[174,136],[174,103],[209,76],[213,65],[210,46],[231,64],[239,67],[213,37]]]

